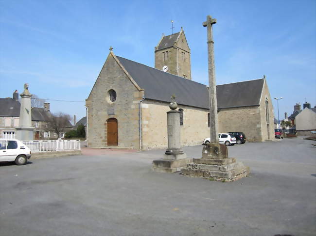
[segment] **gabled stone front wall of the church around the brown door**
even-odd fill
[[[115,102],[109,90],[115,90]],[[86,101],[88,107],[88,146],[107,147],[107,120],[118,121],[118,146],[139,149],[139,101],[142,91],[132,84],[110,54]],[[110,146],[113,147],[113,146]]]

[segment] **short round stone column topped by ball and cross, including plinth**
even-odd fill
[[[188,159],[181,148],[180,112],[176,110],[176,96],[171,96],[167,111],[168,148],[162,159],[154,160],[152,170],[162,173],[173,173],[185,168],[192,159]]]

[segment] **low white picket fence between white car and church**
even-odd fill
[[[80,150],[80,140],[31,140],[22,141],[32,153]]]

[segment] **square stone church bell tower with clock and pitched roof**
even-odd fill
[[[191,79],[191,52],[181,27],[181,31],[162,37],[155,47],[155,68]]]

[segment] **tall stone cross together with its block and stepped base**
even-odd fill
[[[233,182],[249,174],[249,167],[235,158],[228,158],[228,149],[225,144],[218,142],[217,98],[214,65],[214,41],[212,25],[216,19],[207,16],[203,23],[208,32],[208,57],[209,57],[209,100],[210,100],[210,138],[211,143],[206,144],[202,150],[202,158],[193,158],[181,172],[184,175]]]

